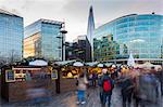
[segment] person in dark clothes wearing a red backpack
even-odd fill
[[[102,107],[105,107],[105,103],[108,102],[108,107],[111,107],[111,96],[112,90],[114,88],[113,80],[109,76],[108,69],[102,69],[103,76],[99,81],[99,85],[101,86],[100,98]]]

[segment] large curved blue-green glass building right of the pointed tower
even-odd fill
[[[113,36],[116,42],[114,57],[108,57],[106,52],[98,53],[98,48],[104,42],[104,37]],[[163,15],[130,14],[106,23],[95,30],[93,34],[95,61],[127,58],[131,52],[135,58],[163,57]],[[97,44],[97,41],[100,41]],[[105,42],[105,45],[110,42]],[[105,46],[108,48],[108,46]],[[101,53],[101,54],[100,54]],[[111,55],[111,54],[109,54]]]

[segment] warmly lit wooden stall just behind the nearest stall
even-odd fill
[[[77,76],[82,71],[84,64],[76,61],[57,62],[60,66],[59,85],[60,93],[76,90]]]

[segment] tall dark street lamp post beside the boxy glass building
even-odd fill
[[[65,61],[64,39],[65,39],[65,34],[67,34],[67,31],[65,30],[65,24],[64,23],[62,23],[62,28],[61,28],[60,32],[62,34],[62,36],[57,37],[57,38],[61,39],[62,44],[61,44],[60,49],[62,49],[62,61]]]

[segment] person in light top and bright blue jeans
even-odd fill
[[[78,81],[78,86],[77,86],[77,104],[85,104],[86,103],[86,98],[85,98],[85,93],[87,90],[87,78],[86,75],[84,75],[84,72],[79,73],[79,77],[77,79]]]

